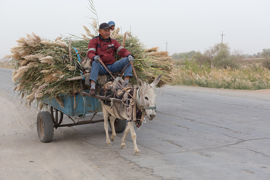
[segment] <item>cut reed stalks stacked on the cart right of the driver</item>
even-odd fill
[[[123,35],[116,35],[115,38],[120,44],[123,43]],[[158,87],[170,84],[173,82],[173,60],[167,51],[158,51],[158,47],[145,49],[145,46],[140,42],[137,36],[133,36],[131,32],[127,32],[127,38],[125,39],[126,48],[135,58],[133,65],[137,75],[149,83],[154,79],[161,76]],[[120,59],[116,55],[116,59]],[[132,76],[130,78],[131,84],[136,84],[136,78]]]

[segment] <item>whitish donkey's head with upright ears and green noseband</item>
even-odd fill
[[[140,87],[139,90],[139,103],[144,107],[145,112],[149,120],[153,120],[156,116],[156,92],[155,86],[159,82],[161,75],[158,76],[151,84],[143,82],[140,78],[137,79],[137,83]]]

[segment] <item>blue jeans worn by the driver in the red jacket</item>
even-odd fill
[[[114,62],[113,64],[108,64],[106,67],[109,69],[109,71],[113,73],[118,73],[119,71],[122,71],[124,67],[126,67],[128,64],[129,64],[129,59],[125,57],[125,58],[120,59],[119,61]],[[109,72],[103,67],[102,64],[100,64],[99,62],[93,61],[89,79],[96,82],[97,75],[102,75],[102,74],[109,74]],[[131,64],[129,64],[124,70],[124,77],[126,76],[132,76]]]

